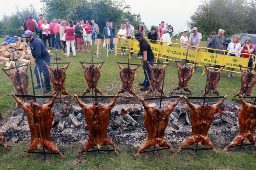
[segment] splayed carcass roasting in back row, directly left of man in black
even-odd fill
[[[134,92],[132,88],[132,83],[134,80],[134,75],[135,71],[139,68],[139,65],[133,69],[131,69],[130,66],[127,67],[122,67],[118,63],[118,67],[120,69],[119,75],[122,81],[122,87],[121,89],[117,92],[117,94],[124,93],[125,90],[128,90],[130,94],[133,94],[135,97],[137,97],[136,93]]]

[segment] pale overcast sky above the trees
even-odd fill
[[[148,26],[158,25],[161,21],[169,23],[174,28],[174,33],[179,33],[182,29],[187,29],[186,22],[189,16],[193,14],[201,0],[170,0],[170,1],[148,1],[148,0],[125,0],[125,3],[131,6],[131,12],[140,13],[142,21]],[[15,12],[15,5],[20,9],[34,4],[38,12],[42,4],[40,0],[8,0],[8,6],[0,6],[0,18],[3,14],[11,15]],[[95,21],[97,23],[97,21]],[[149,28],[150,29],[150,28]]]

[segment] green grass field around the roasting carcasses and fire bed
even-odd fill
[[[0,39],[2,42],[3,39]],[[178,41],[174,41],[178,42]],[[202,42],[202,46],[205,42]],[[97,46],[90,47],[90,51],[96,51]],[[100,46],[101,55],[96,58],[94,55],[94,62],[105,61],[103,67],[100,70],[101,76],[98,82],[100,90],[103,95],[116,94],[121,87],[121,81],[119,77],[119,68],[116,61],[127,62],[128,56],[121,55],[121,51],[118,50],[119,54],[115,56],[113,52],[109,52],[109,56],[106,56],[106,48]],[[126,53],[127,54],[127,53]],[[87,86],[84,72],[79,61],[90,62],[91,53],[77,53],[76,57],[70,55],[67,58],[63,55],[62,51],[58,51],[57,55],[62,58],[60,62],[68,62],[68,70],[66,71],[66,90],[70,94],[83,94],[85,87]],[[160,60],[163,62],[163,60]],[[51,62],[55,62],[51,59]],[[130,63],[141,63],[140,59],[137,59],[137,55],[134,54],[130,59]],[[64,66],[64,65],[63,65]],[[4,66],[0,66],[4,68]],[[33,72],[34,66],[32,66]],[[200,96],[204,92],[206,74],[202,74],[202,68],[194,72],[193,77],[190,79],[188,86],[193,93],[193,96]],[[32,83],[30,77],[30,70],[28,69],[29,76],[29,94],[32,93]],[[234,78],[227,78],[227,72],[222,72],[222,77],[218,85],[220,95],[228,95],[228,99],[225,102],[231,101],[236,92],[240,90],[240,74],[235,74]],[[4,119],[0,121],[3,124],[5,120],[11,115],[13,108],[15,107],[15,101],[10,95],[10,92],[15,92],[14,86],[10,78],[8,78],[4,72],[0,72],[0,112]],[[34,82],[36,82],[35,75],[33,75]],[[133,88],[140,97],[145,95],[145,92],[140,92],[140,86],[138,83],[144,79],[144,73],[142,67],[136,71],[136,75],[133,82]],[[178,83],[177,67],[174,62],[170,62],[170,65],[166,69],[166,76],[164,80],[164,92],[169,96],[172,89]],[[53,90],[53,87],[52,87]],[[40,90],[36,90],[36,95],[40,95]],[[51,95],[52,91],[47,95]],[[255,95],[255,88],[252,91]],[[224,144],[215,146],[218,149],[218,153],[215,154],[212,151],[200,151],[190,152],[182,151],[181,153],[170,153],[169,151],[160,151],[155,155],[150,153],[141,154],[138,159],[133,159],[136,149],[133,147],[122,147],[117,146],[121,151],[120,156],[116,156],[114,153],[90,153],[86,154],[81,158],[76,157],[76,153],[82,147],[81,144],[66,145],[60,147],[60,149],[66,152],[66,158],[60,159],[59,156],[48,156],[49,159],[43,160],[41,155],[29,154],[26,158],[21,158],[23,151],[28,147],[29,141],[15,144],[10,143],[12,148],[4,150],[0,146],[0,165],[4,169],[255,169],[256,168],[256,157],[255,148],[253,146],[246,147],[244,149],[235,149],[230,152],[222,152],[221,148]],[[174,150],[177,150],[175,148]],[[111,159],[113,158],[113,160]]]

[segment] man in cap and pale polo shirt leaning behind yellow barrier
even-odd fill
[[[187,46],[189,46],[191,42],[191,46],[195,46],[195,47],[191,47],[190,49],[196,50],[198,47],[201,47],[201,40],[202,40],[202,34],[197,32],[197,28],[194,27],[193,33],[189,35]],[[198,66],[195,67],[195,70],[198,70]]]

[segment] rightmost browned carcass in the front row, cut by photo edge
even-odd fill
[[[247,103],[241,94],[239,96],[242,102],[242,106],[238,110],[239,134],[224,151],[227,151],[230,146],[240,144],[243,141],[252,142],[256,147],[253,136],[256,127],[256,106]]]

